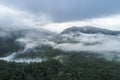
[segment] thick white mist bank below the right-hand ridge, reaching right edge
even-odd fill
[[[76,41],[79,42],[61,43],[54,47],[66,51],[120,52],[120,36],[82,34],[76,37]]]

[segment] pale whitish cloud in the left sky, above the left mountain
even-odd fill
[[[51,17],[47,14],[35,16],[25,11],[16,10],[7,6],[0,5],[0,27],[40,27],[48,23]]]

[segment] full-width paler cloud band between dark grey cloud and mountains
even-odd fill
[[[88,19],[83,21],[71,21],[55,23],[48,14],[34,15],[25,11],[20,11],[0,5],[0,27],[34,27],[44,28],[50,31],[61,32],[71,26],[95,26],[100,28],[120,30],[120,15]]]

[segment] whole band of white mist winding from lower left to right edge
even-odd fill
[[[33,30],[32,30],[33,31]],[[79,36],[78,36],[79,34]],[[77,35],[77,36],[75,36]],[[61,38],[55,38],[55,37]],[[53,39],[54,38],[54,39]],[[57,42],[57,41],[61,42]],[[72,40],[72,42],[70,41]],[[120,35],[113,36],[113,35],[104,35],[104,34],[85,34],[85,33],[71,33],[71,34],[46,34],[44,31],[31,30],[26,31],[24,36],[17,38],[16,42],[19,43],[23,48],[18,50],[17,52],[13,52],[11,55],[7,57],[2,57],[0,59],[8,60],[8,61],[15,61],[14,59],[18,54],[24,54],[28,50],[34,50],[36,47],[42,47],[42,45],[50,46],[53,49],[60,49],[63,51],[71,52],[93,52],[96,54],[102,55],[117,55],[120,56]],[[42,48],[40,48],[42,49]],[[30,58],[26,58],[26,61],[32,61]],[[38,60],[36,57],[33,61]],[[25,61],[20,58],[17,60]],[[41,59],[40,59],[41,61]]]

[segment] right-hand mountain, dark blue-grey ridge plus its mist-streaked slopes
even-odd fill
[[[70,27],[60,34],[54,35],[51,39],[56,43],[79,43],[83,39],[105,39],[105,37],[118,36],[120,31],[112,31],[92,26],[83,26],[83,27]],[[104,37],[102,37],[104,36]],[[93,41],[92,41],[93,42]],[[96,44],[98,42],[92,43]],[[89,44],[89,41],[85,44]]]

